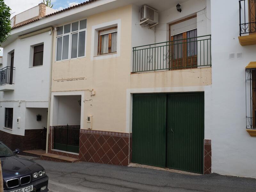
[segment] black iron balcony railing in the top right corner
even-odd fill
[[[242,34],[256,32],[256,0],[239,1],[239,26]]]

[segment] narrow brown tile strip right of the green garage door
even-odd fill
[[[204,174],[212,173],[212,140],[204,140]]]

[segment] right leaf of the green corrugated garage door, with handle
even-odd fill
[[[166,167],[203,173],[204,94],[167,95]]]

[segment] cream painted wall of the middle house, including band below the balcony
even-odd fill
[[[53,61],[52,92],[59,92],[58,95],[61,95],[61,92],[83,91],[84,124],[86,116],[92,115],[93,130],[131,132],[130,125],[127,125],[131,120],[131,108],[127,99],[133,92],[127,94],[127,90],[148,92],[148,88],[162,90],[160,88],[165,87],[164,90],[168,92],[174,90],[170,87],[178,87],[176,91],[200,90],[211,95],[212,68],[131,74],[132,46],[154,43],[155,36],[154,30],[138,25],[138,15],[139,7],[127,5],[88,17],[86,57]],[[114,20],[121,20],[121,30],[118,31],[121,34],[120,56],[91,59],[93,26]],[[54,36],[53,50],[56,50],[56,32]],[[204,86],[208,88],[204,89]],[[91,95],[92,90],[96,92],[95,95]],[[83,126],[81,128],[85,129]]]

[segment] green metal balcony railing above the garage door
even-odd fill
[[[212,66],[211,35],[133,47],[132,73]]]

